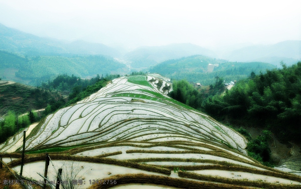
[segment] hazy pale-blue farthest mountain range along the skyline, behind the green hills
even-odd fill
[[[36,35],[9,28],[0,23],[0,50],[23,54],[24,56],[73,56],[73,55],[107,55],[123,59],[134,69],[143,69],[157,63],[178,59],[184,56],[203,55],[212,58],[227,59],[231,62],[267,62],[280,66],[301,59],[301,41],[282,41],[272,45],[249,45],[223,53],[209,50],[190,43],[169,44],[165,46],[138,47],[130,52],[86,41],[63,41],[54,38],[42,38]]]

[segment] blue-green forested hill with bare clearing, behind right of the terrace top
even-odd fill
[[[209,64],[214,64],[208,67]],[[218,66],[217,66],[218,64]],[[251,72],[259,74],[275,66],[263,62],[228,62],[222,59],[213,59],[207,56],[194,55],[180,59],[171,59],[149,69],[174,80],[186,79],[189,82],[210,85],[216,77],[225,82],[247,78]]]

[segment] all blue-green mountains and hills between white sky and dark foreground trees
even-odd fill
[[[209,63],[224,64],[214,69],[214,71],[219,70],[219,76],[231,79],[225,76],[231,74],[235,75],[232,78],[239,79],[247,77],[252,71],[257,73],[260,70],[275,68],[275,66],[280,67],[281,61],[290,66],[301,59],[301,41],[251,45],[236,50],[229,48],[222,55],[220,51],[209,50],[190,43],[138,47],[130,52],[122,51],[121,53],[120,49],[117,50],[104,44],[42,38],[2,24],[0,24],[0,50],[2,50],[0,77],[11,77],[14,81],[37,78],[48,80],[49,77],[63,73],[89,77],[97,73],[122,75],[144,70],[164,74],[174,79],[187,78],[193,82],[208,84],[212,83],[209,78],[214,78],[213,75],[217,74],[208,73],[206,77],[201,76],[202,73],[207,72]],[[262,62],[274,66],[268,66]],[[126,65],[131,69],[130,71]],[[239,67],[246,70],[242,72]]]

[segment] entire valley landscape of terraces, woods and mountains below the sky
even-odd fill
[[[63,189],[300,188],[300,43],[114,48],[0,23],[0,189],[43,187],[48,160]]]

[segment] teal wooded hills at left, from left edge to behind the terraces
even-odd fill
[[[34,56],[21,57],[0,51],[0,78],[30,85],[54,79],[59,74],[95,77],[97,74],[126,74],[126,65],[109,56]]]

